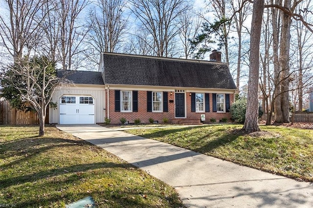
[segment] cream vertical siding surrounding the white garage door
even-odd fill
[[[49,123],[59,124],[59,104],[60,104],[60,98],[63,95],[91,95],[95,102],[95,122],[96,123],[103,123],[105,118],[105,104],[106,104],[106,97],[105,97],[105,87],[104,85],[72,85],[72,86],[66,86],[62,87],[61,89],[56,89],[54,92],[54,95],[52,97],[52,102],[58,103],[57,109],[49,109]]]

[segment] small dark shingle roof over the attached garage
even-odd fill
[[[58,77],[65,77],[75,84],[104,84],[101,72],[58,70]]]

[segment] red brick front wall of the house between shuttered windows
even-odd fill
[[[106,90],[107,93],[108,90]],[[160,90],[161,91],[161,90]],[[120,118],[126,118],[129,123],[134,123],[135,119],[140,119],[141,123],[148,124],[149,118],[153,118],[158,123],[163,122],[163,118],[168,118],[170,123],[178,123],[180,118],[175,118],[175,91],[168,92],[168,112],[147,112],[147,91],[140,91],[138,90],[138,112],[115,112],[115,100],[114,100],[114,90],[109,90],[109,117],[111,119],[111,124],[119,124]],[[172,93],[172,94],[171,94]],[[230,113],[217,113],[213,112],[213,99],[212,93],[210,93],[210,112],[191,112],[191,96],[189,92],[185,93],[185,103],[186,103],[186,110],[185,110],[185,118],[186,121],[188,120],[199,120],[201,114],[205,114],[205,123],[210,123],[210,119],[216,119],[216,122],[222,120],[222,118],[227,118],[230,121]],[[108,97],[106,96],[106,99]],[[230,104],[233,103],[234,95],[229,94]],[[173,102],[171,102],[173,101]],[[108,106],[106,107],[106,115],[108,116]]]

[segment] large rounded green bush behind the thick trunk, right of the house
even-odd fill
[[[240,124],[244,124],[246,120],[246,98],[240,98],[230,106],[231,119]],[[259,106],[259,118],[263,115],[263,111]]]

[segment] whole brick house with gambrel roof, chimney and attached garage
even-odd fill
[[[50,109],[50,123],[94,124],[108,117],[118,124],[124,117],[129,123],[168,118],[200,124],[201,115],[205,122],[230,120],[236,85],[220,62],[221,53],[213,52],[210,59],[214,61],[102,53],[98,72],[73,72],[67,77],[73,84],[55,93],[59,108]]]

